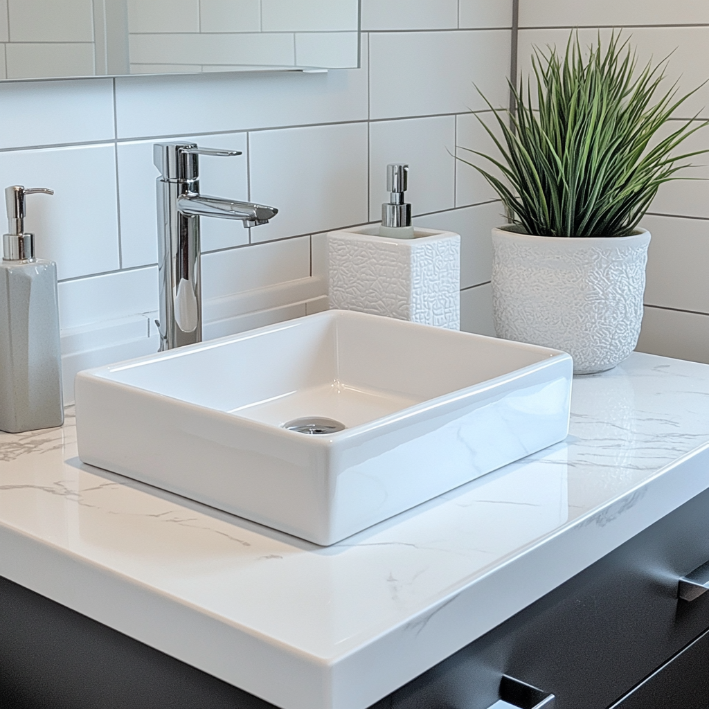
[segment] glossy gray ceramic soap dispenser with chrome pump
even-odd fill
[[[35,258],[25,233],[25,197],[50,189],[5,190],[9,233],[0,263],[0,430],[11,433],[64,423],[57,264]]]

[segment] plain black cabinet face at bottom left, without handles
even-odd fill
[[[277,709],[0,578],[2,709]]]

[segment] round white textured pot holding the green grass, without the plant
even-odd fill
[[[495,330],[569,352],[574,374],[623,362],[637,345],[650,234],[530,236],[492,230]]]

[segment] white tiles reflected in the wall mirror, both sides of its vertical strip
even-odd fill
[[[0,78],[105,73],[94,37],[104,10],[94,0],[0,0]],[[357,57],[354,1],[128,0],[126,10],[132,73],[352,67]]]

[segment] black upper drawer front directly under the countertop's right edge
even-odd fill
[[[709,491],[396,691],[393,709],[487,709],[508,675],[555,709],[605,709],[709,627],[709,593],[679,578],[709,560]]]

